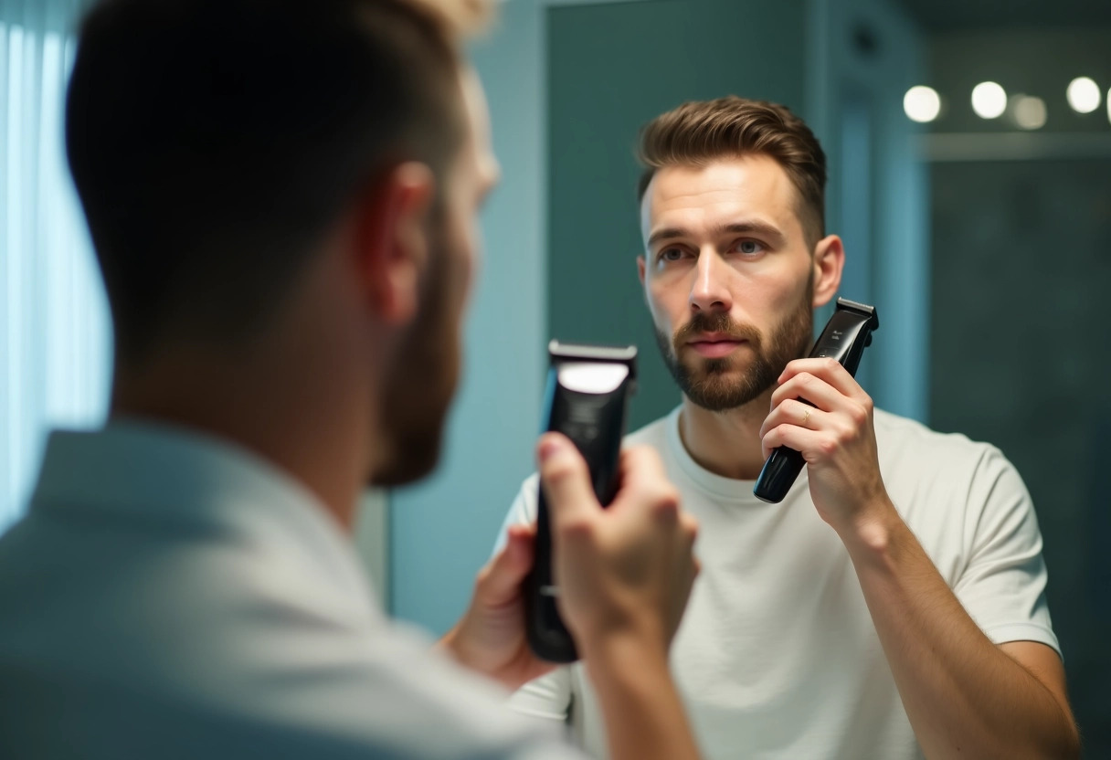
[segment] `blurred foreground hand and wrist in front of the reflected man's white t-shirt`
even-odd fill
[[[699,757],[668,650],[698,574],[698,524],[653,449],[621,454],[621,490],[602,509],[578,449],[540,439],[559,610],[598,693],[613,760]]]

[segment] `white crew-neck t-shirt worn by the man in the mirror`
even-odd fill
[[[679,437],[679,412],[632,433],[654,447],[699,522],[702,572],[672,648],[672,670],[710,760],[921,758],[849,554],[818,516],[803,469],[782,503],[752,481],[708,472]],[[964,609],[995,643],[1060,651],[1045,604],[1041,533],[1000,451],[875,411],[880,470],[895,507]],[[537,479],[507,518],[530,522]],[[511,704],[570,716],[605,757],[598,699],[581,664],[526,684]]]

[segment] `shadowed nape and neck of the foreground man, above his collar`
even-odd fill
[[[333,336],[334,338],[334,336]],[[358,352],[303,331],[249,351],[176,346],[117,367],[111,416],[191,428],[299,481],[347,531],[372,461],[374,398]]]

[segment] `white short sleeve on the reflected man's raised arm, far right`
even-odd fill
[[[980,629],[997,644],[1038,641],[1060,653],[1033,503],[1014,466],[994,447],[972,477],[964,542],[968,564],[953,592]]]

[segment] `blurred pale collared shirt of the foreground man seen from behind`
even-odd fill
[[[581,757],[430,648],[269,463],[147,423],[56,433],[0,539],[0,758]]]

